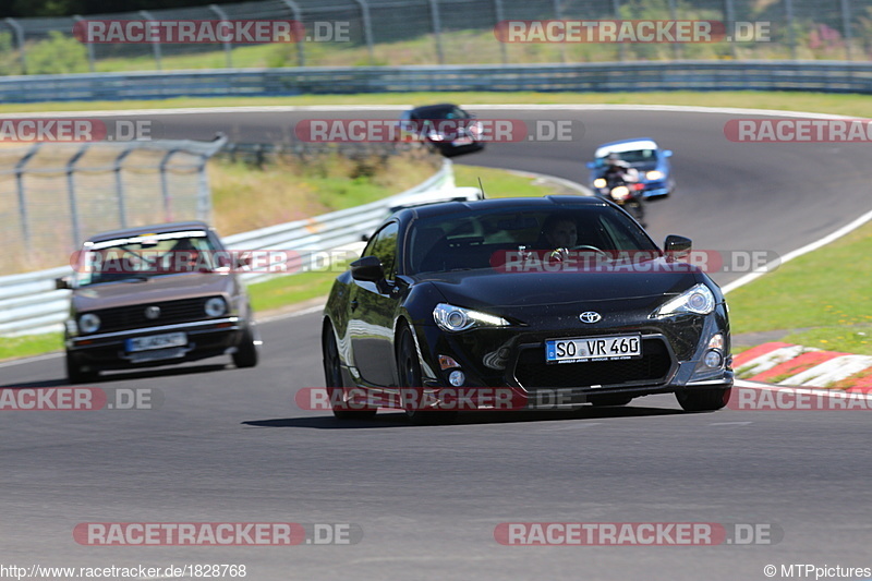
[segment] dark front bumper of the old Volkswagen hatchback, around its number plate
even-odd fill
[[[235,352],[245,323],[240,317],[179,323],[66,338],[66,352],[87,371],[170,365]],[[130,352],[128,339],[184,332],[186,344]]]

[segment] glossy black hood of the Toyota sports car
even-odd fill
[[[595,302],[627,302],[633,306],[656,305],[697,282],[697,271],[663,259],[653,261],[657,273],[498,273],[465,270],[429,274],[448,303],[488,312],[509,313],[518,308],[579,305]],[[593,306],[593,305],[592,305]]]

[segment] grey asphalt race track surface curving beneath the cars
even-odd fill
[[[327,116],[154,119],[167,137],[225,131],[270,142],[296,120]],[[480,117],[567,119],[578,131],[568,142],[492,144],[457,162],[586,182],[583,164],[598,143],[650,136],[673,149],[678,191],[649,207],[658,242],[680,233],[697,249],[784,254],[872,208],[861,145],[730,143],[726,114],[487,109]],[[162,399],[156,410],[0,411],[2,561],[244,564],[253,580],[731,581],[767,579],[766,565],[872,567],[861,411],[683,413],[673,396],[653,396],[576,414],[467,414],[448,426],[409,426],[396,412],[340,423],[294,402],[299,389],[323,385],[319,314],[263,324],[262,334],[254,370],[211,360],[95,384],[150,389]],[[63,360],[0,364],[0,385],[63,386]],[[86,522],[347,523],[363,536],[329,546],[100,547],[74,540]],[[502,546],[494,532],[507,522],[760,524],[778,542]]]

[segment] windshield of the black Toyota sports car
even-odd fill
[[[569,239],[554,231],[574,230]],[[550,232],[549,232],[550,230]],[[407,273],[498,267],[507,253],[558,247],[597,252],[609,261],[659,251],[644,230],[610,206],[486,209],[419,218],[408,237]]]

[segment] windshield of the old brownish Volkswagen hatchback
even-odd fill
[[[226,266],[202,230],[119,238],[86,244],[76,261],[80,287],[145,280],[180,273],[211,271]]]

